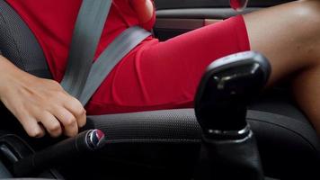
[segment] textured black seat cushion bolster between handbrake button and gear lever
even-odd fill
[[[136,112],[89,117],[110,140],[164,140],[200,142],[200,127],[193,110]]]

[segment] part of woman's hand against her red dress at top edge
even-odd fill
[[[129,0],[133,10],[138,14],[140,23],[147,23],[154,14],[154,5],[151,0]]]

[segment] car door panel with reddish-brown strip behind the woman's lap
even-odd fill
[[[210,23],[218,23],[236,14],[247,14],[267,6],[289,1],[249,1],[242,13],[230,8],[227,0],[156,0],[154,32],[159,40],[167,40]]]

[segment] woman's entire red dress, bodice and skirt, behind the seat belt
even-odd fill
[[[61,81],[81,0],[7,0],[40,42],[55,80]],[[139,23],[129,0],[113,0],[97,58],[120,32]],[[113,68],[86,105],[88,114],[191,107],[206,67],[215,59],[249,50],[241,15],[159,42],[148,37]]]

